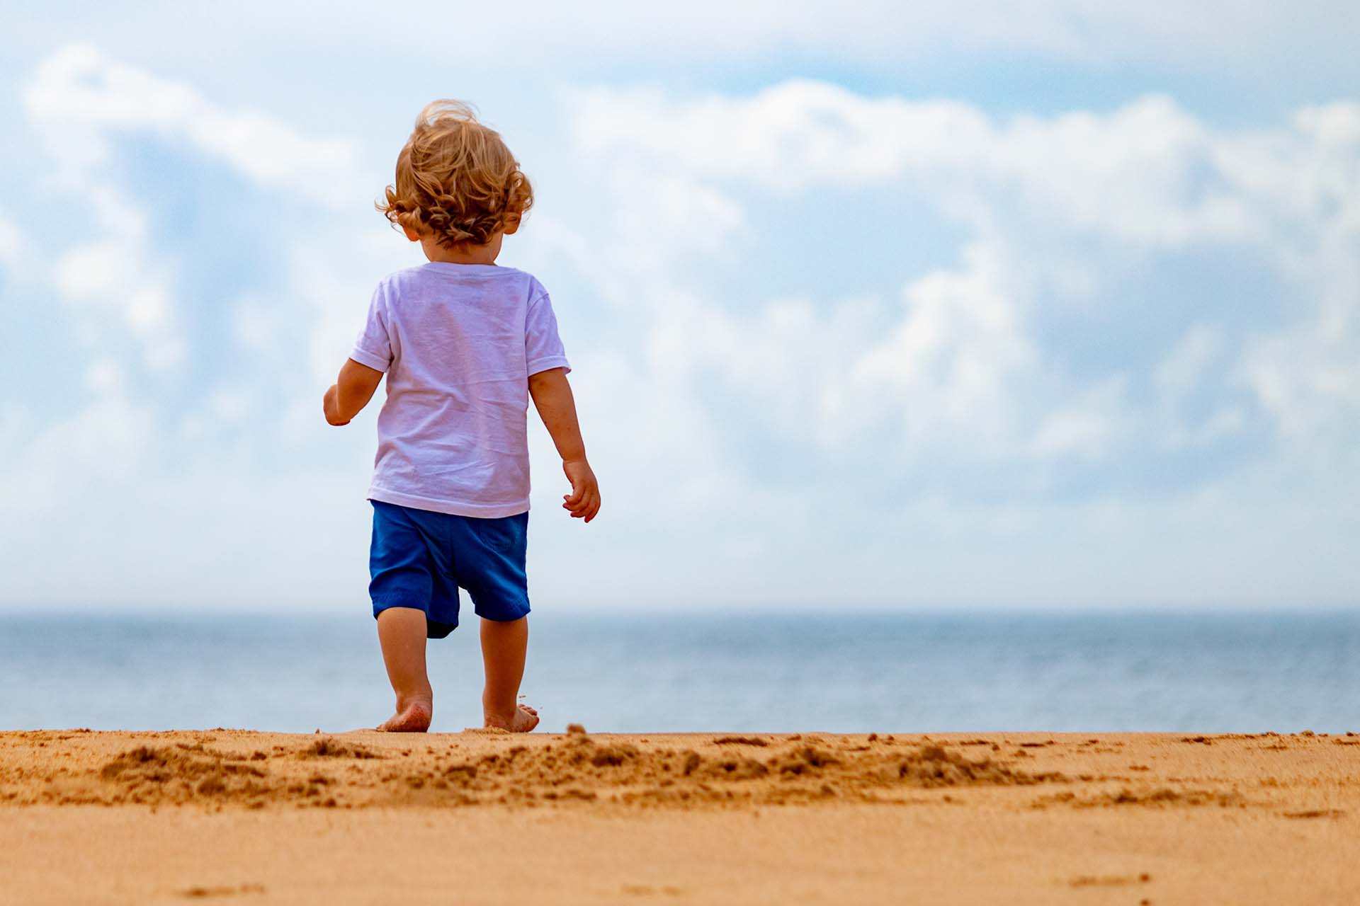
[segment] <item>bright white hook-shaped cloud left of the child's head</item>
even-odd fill
[[[359,190],[364,181],[352,139],[314,139],[260,113],[224,109],[188,84],[112,60],[91,43],[69,43],[45,58],[23,101],[50,149],[52,185],[79,198],[103,230],[49,264],[53,284],[63,297],[84,306],[97,319],[82,327],[83,336],[91,342],[103,341],[106,327],[98,318],[113,312],[139,338],[141,361],[152,371],[186,361],[192,352],[185,336],[189,318],[175,297],[175,268],[155,249],[146,205],[110,175],[114,136],[186,143],[204,159],[219,160],[242,178],[309,205],[362,211],[369,204]],[[318,242],[335,242],[337,236],[345,240],[343,213],[318,216],[325,217],[325,225],[311,230]],[[348,242],[363,247],[354,242],[352,232]],[[332,262],[318,266],[309,285],[336,270],[335,261],[355,258],[352,251],[336,254],[336,246],[329,251]],[[355,284],[330,284],[340,291],[333,297],[355,291],[367,295],[367,288]],[[322,321],[329,308],[318,306]]]

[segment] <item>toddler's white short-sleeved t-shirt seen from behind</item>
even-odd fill
[[[529,509],[529,375],[571,371],[532,274],[445,261],[396,270],[350,357],[388,374],[370,500],[487,519]]]

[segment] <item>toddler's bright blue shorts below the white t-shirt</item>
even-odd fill
[[[374,619],[388,607],[415,607],[426,614],[426,634],[443,638],[458,626],[460,587],[479,617],[509,622],[529,613],[528,512],[476,519],[370,503]]]

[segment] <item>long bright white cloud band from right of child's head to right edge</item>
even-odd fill
[[[994,216],[982,198],[1013,189],[1039,206],[1035,216],[1171,246],[1269,243],[1282,219],[1316,224],[1353,197],[1345,160],[1360,147],[1360,103],[1349,102],[1240,133],[1214,130],[1161,95],[1108,114],[1005,122],[962,102],[869,98],[811,80],[745,98],[594,88],[578,102],[582,148],[691,178],[771,192],[906,181],[978,227]]]

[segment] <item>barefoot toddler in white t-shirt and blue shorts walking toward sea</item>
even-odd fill
[[[385,194],[378,211],[428,262],[378,281],[324,401],[328,422],[348,424],[388,376],[369,488],[369,595],[397,706],[378,729],[428,729],[426,638],[458,625],[461,587],[481,618],[484,723],[528,732],[539,723],[518,701],[529,640],[530,398],[571,482],[563,508],[585,522],[600,512],[552,303],[532,274],[495,264],[533,190],[496,132],[466,105],[435,101],[416,118]]]

